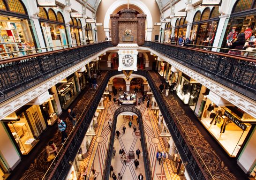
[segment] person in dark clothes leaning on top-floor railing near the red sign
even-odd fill
[[[234,42],[228,41],[227,43],[227,48],[229,49],[236,49],[236,50],[242,50],[244,47],[246,40],[245,40],[245,34],[240,33],[237,35],[237,38],[234,40]],[[234,54],[234,55],[241,55],[241,51],[235,51],[235,50],[229,50],[229,54]]]

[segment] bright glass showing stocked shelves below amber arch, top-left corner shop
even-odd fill
[[[0,60],[36,53],[38,37],[32,20],[0,15]],[[31,50],[25,52],[16,52]]]

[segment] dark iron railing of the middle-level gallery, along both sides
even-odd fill
[[[83,137],[90,125],[90,120],[98,107],[98,103],[103,95],[105,87],[109,79],[114,75],[122,74],[121,71],[113,69],[107,72],[104,80],[99,84],[98,89],[90,100],[90,104],[84,109],[83,113],[77,120],[75,128],[71,131],[68,139],[59,150],[56,158],[53,160],[48,171],[45,173],[43,180],[64,180],[68,174],[71,162],[74,161],[75,156],[81,146]],[[182,160],[190,178],[192,180],[214,180],[211,171],[204,163],[201,154],[196,150],[196,146],[189,138],[189,135],[181,127],[181,122],[173,113],[172,108],[165,102],[163,96],[158,91],[158,87],[153,81],[150,73],[143,69],[138,69],[134,74],[146,77],[157,100],[162,115],[166,121],[166,125],[173,137],[174,143],[181,155]]]

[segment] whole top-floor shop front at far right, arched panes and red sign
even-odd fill
[[[255,2],[256,3],[256,2]],[[238,0],[233,7],[233,11],[230,18],[225,21],[222,31],[220,47],[226,47],[227,41],[233,42],[239,33],[245,33],[246,39],[246,51],[255,51],[256,48],[256,4],[253,4],[253,0],[248,0],[246,3],[242,3]],[[225,52],[225,50],[223,50]],[[241,55],[256,57],[256,53],[253,52],[241,52]]]

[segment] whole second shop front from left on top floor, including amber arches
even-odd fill
[[[65,46],[68,45],[67,30],[61,12],[55,14],[51,8],[48,12],[45,8],[40,8],[38,16],[46,47],[53,47],[53,50],[62,49],[61,46],[68,47]]]

